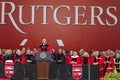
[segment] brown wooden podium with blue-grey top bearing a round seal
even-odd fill
[[[51,59],[50,52],[37,52],[36,53],[38,79],[48,79],[49,65],[51,61],[52,59]]]

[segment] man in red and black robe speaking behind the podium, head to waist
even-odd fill
[[[51,52],[52,48],[47,44],[46,39],[42,39],[42,44],[39,46],[38,51],[48,51]]]

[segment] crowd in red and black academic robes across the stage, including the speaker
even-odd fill
[[[99,65],[101,77],[109,74],[115,66],[119,67],[119,65],[115,63],[120,62],[120,50],[92,50],[88,53],[84,49],[80,49],[80,51],[77,52],[75,50],[66,51],[60,48],[58,52],[56,52],[47,44],[46,39],[43,39],[42,45],[33,50],[30,48],[22,48],[22,50],[0,49],[0,63],[4,64],[6,60],[13,60],[15,64],[36,64],[35,56],[38,51],[49,51],[53,61],[57,64]]]

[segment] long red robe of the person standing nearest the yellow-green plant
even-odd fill
[[[109,74],[114,68],[114,57],[104,57],[104,76]]]

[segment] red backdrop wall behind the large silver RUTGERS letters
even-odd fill
[[[81,48],[90,51],[91,49],[119,49],[120,48],[120,6],[119,0],[0,0],[0,2],[9,1],[13,2],[16,6],[16,10],[13,13],[14,19],[19,27],[27,34],[21,34],[18,32],[12,24],[9,17],[5,17],[7,24],[0,24],[0,48],[20,48],[19,44],[24,38],[28,39],[25,47],[38,47],[41,44],[41,39],[46,38],[52,48],[59,48],[56,39],[62,39],[67,50],[79,50]],[[30,25],[22,25],[18,20],[18,5],[24,5],[23,19],[29,21],[31,16],[30,5],[52,5],[54,8],[60,5],[68,5],[71,10],[60,10],[58,18],[61,22],[65,22],[64,16],[71,16],[71,24],[62,26],[56,24],[53,20],[53,11],[48,9],[47,22],[49,24],[44,25],[42,23],[43,11],[38,10],[35,13],[35,23]],[[86,6],[85,18],[81,20],[88,20],[86,26],[74,25],[75,9],[73,6]],[[115,26],[102,26],[95,20],[96,25],[90,26],[91,9],[89,6],[100,6],[104,10],[104,14],[101,16],[102,20],[105,18],[111,18],[106,15],[106,8],[109,6],[115,6],[117,11],[114,11],[115,16],[118,18],[118,23]],[[9,12],[11,7],[8,5],[6,11]],[[81,10],[82,11],[82,10]],[[96,11],[97,13],[97,11]],[[1,20],[1,4],[0,4],[0,20]],[[112,21],[112,20],[111,20]]]

